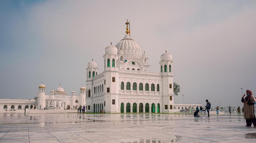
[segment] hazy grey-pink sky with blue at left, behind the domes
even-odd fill
[[[165,49],[173,56],[175,102],[241,106],[256,95],[256,1],[0,1],[0,98],[35,97],[61,86],[77,93],[93,58],[103,70],[105,47],[125,36],[159,72]]]

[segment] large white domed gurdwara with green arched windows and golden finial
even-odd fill
[[[159,72],[149,72],[148,56],[125,24],[124,38],[105,48],[104,71],[98,74],[97,63],[88,63],[86,112],[174,112],[172,55],[165,51]]]

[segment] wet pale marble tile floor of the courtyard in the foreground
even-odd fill
[[[242,116],[174,114],[0,114],[0,143],[256,142]]]

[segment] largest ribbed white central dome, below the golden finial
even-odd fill
[[[126,58],[141,58],[141,49],[140,45],[131,39],[129,34],[126,34],[124,38],[116,44],[118,50],[124,52]]]

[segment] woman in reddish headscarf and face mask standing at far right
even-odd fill
[[[256,128],[256,118],[254,115],[254,104],[255,97],[252,95],[251,90],[246,90],[245,94],[242,97],[242,102],[244,103],[244,119],[246,120],[246,127],[250,127],[253,124],[253,127]]]

